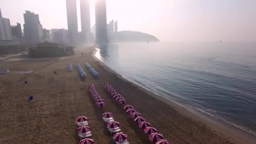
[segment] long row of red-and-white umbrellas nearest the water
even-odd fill
[[[120,93],[117,93],[109,83],[104,82],[102,84],[116,100],[118,100],[120,97],[121,99],[124,99],[123,96],[121,96]],[[157,132],[156,128],[153,128],[150,123],[146,122],[145,119],[141,117],[141,113],[137,112],[131,105],[126,105],[124,109],[134,119],[134,121],[139,124],[139,128],[142,128],[144,133],[148,134],[150,141],[153,141],[156,144],[171,144],[170,141],[163,138],[161,133]]]

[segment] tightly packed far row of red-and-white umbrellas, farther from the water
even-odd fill
[[[99,95],[98,90],[94,87],[92,83],[89,83],[87,85],[87,88],[89,89],[97,107],[105,107],[107,104],[104,102],[104,99]]]

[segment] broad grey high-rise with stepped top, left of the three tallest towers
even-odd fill
[[[26,11],[24,13],[24,36],[27,44],[41,43],[43,39],[43,26],[39,21],[39,15]]]

